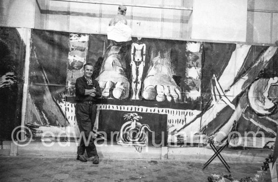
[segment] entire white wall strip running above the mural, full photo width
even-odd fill
[[[277,0],[61,1],[0,0],[0,26],[106,34],[118,4],[125,4],[133,36],[272,44],[278,40]],[[192,7],[193,12],[186,10]]]

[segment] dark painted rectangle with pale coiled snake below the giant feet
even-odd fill
[[[131,108],[131,106],[126,107]],[[129,110],[129,108],[127,109]],[[136,145],[136,142],[141,145],[145,145],[145,142],[148,142],[149,145],[167,145],[168,135],[166,114],[115,111],[108,109],[100,112],[99,119],[99,131],[105,132],[109,141],[117,141],[118,143],[129,145]],[[132,123],[134,125],[133,128]],[[114,138],[112,139],[113,135],[111,135],[111,133],[113,132],[119,132],[119,134],[114,135]],[[140,134],[148,135],[148,137],[146,137],[148,138],[148,141],[146,141],[146,138],[144,139],[144,137],[140,138]],[[135,139],[138,140],[135,141]],[[132,142],[132,140],[134,141]]]

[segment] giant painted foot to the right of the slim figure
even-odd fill
[[[180,88],[176,85],[172,70],[170,53],[153,58],[152,65],[149,68],[146,79],[143,83],[143,98],[147,100],[157,100],[162,102],[174,100],[177,102],[181,99]]]

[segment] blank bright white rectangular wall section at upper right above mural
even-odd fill
[[[246,40],[247,0],[195,0],[193,39]]]

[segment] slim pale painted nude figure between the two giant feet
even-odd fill
[[[140,39],[138,39],[140,40]],[[131,100],[139,100],[142,86],[142,75],[145,67],[146,44],[138,41],[131,45],[131,73],[132,73],[132,97]]]

